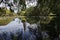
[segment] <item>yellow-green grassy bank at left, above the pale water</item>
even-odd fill
[[[11,22],[14,18],[21,18],[21,20],[25,19],[25,16],[4,16],[0,17],[0,25],[6,25]]]

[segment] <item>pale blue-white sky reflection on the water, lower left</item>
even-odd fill
[[[0,27],[0,40],[37,40],[36,31],[37,25],[31,25],[28,22],[26,22],[26,29],[24,31],[21,20],[15,18],[5,27]]]

